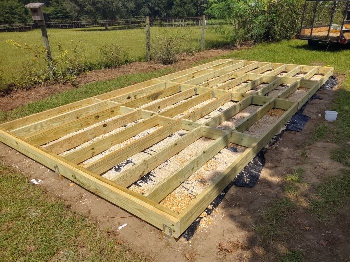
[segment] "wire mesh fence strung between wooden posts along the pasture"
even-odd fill
[[[182,52],[199,51],[205,28],[205,49],[226,46],[228,40],[216,32],[223,21],[202,17],[150,18],[150,49],[156,45],[156,39],[166,34],[177,34]],[[128,61],[144,61],[146,49],[146,19],[123,19],[104,21],[65,21],[47,22],[47,33],[52,57],[57,57],[62,50],[72,50],[78,43],[79,56],[91,69],[103,68],[104,57],[101,50],[115,45],[127,53]],[[33,52],[8,44],[8,40],[18,42],[21,46],[42,46],[43,39],[40,27],[36,24],[0,25],[0,72],[6,83],[16,78],[30,75],[27,71],[45,68],[45,61],[35,58]],[[112,51],[112,50],[110,50]],[[1,80],[1,79],[0,79]]]

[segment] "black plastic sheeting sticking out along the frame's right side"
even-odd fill
[[[338,83],[338,79],[331,76],[320,88],[320,90],[333,90],[334,86]],[[281,138],[283,132],[285,130],[290,131],[296,131],[300,132],[307,121],[310,119],[309,116],[304,115],[303,111],[306,108],[306,105],[309,101],[313,99],[323,99],[319,97],[318,95],[313,95],[297,112],[296,114],[287,122],[285,128],[281,130],[281,132],[277,135],[275,135],[271,141],[269,142],[268,146],[272,146],[275,143],[278,142],[278,140]],[[225,197],[226,193],[230,190],[230,188],[234,185],[237,187],[255,187],[262,168],[265,165],[265,153],[267,149],[263,148],[257,155],[250,161],[250,163],[234,178],[234,180],[228,184],[228,186],[222,191],[220,195],[216,197],[216,199],[211,203],[210,207],[208,207],[205,212],[207,215],[210,215],[214,209],[222,202],[223,198]],[[190,240],[194,233],[197,230],[198,225],[200,224],[200,221],[203,217],[199,217],[196,219],[189,227],[188,229],[182,234],[182,237],[185,238],[187,241]]]

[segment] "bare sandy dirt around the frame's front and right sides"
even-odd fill
[[[233,186],[214,212],[205,217],[210,223],[197,230],[190,241],[183,237],[177,242],[162,239],[160,230],[69,180],[60,179],[53,171],[4,144],[0,144],[0,156],[6,164],[29,179],[42,179],[43,183],[35,186],[94,221],[133,251],[144,253],[150,261],[273,261],[276,259],[272,255],[274,251],[284,253],[290,249],[305,250],[307,261],[346,261],[350,259],[350,205],[345,205],[340,214],[326,225],[302,208],[284,214],[291,233],[275,245],[262,246],[252,230],[252,225],[261,219],[261,210],[283,196],[285,174],[296,166],[304,169],[302,191],[305,193],[313,192],[315,183],[335,175],[343,168],[329,157],[336,147],[332,141],[305,146],[314,126],[324,119],[324,110],[329,108],[335,93],[325,90],[317,92],[323,99],[312,100],[307,105],[304,114],[311,119],[304,130],[284,132],[281,139],[268,149],[266,164],[256,187]],[[306,158],[301,157],[301,150],[306,150]],[[127,226],[118,231],[118,226],[124,223]],[[229,242],[237,243],[235,250],[225,248]]]

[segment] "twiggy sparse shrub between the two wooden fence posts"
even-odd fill
[[[181,38],[178,30],[166,30],[152,36],[151,58],[162,64],[173,64],[181,52]]]

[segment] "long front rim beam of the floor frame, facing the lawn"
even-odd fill
[[[171,227],[174,236],[181,234],[179,221],[174,217],[175,212],[78,165],[69,163],[62,157],[15,137],[2,128],[0,129],[0,141],[148,223],[158,228],[162,228],[165,224]]]

